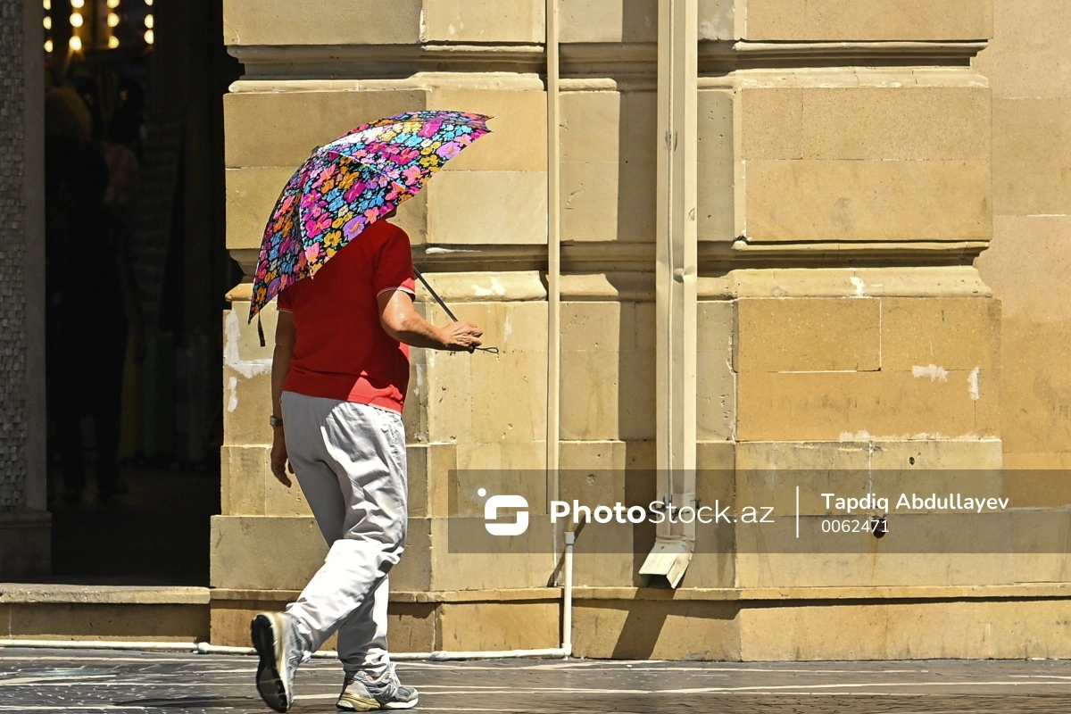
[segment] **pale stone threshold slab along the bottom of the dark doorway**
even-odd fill
[[[208,588],[0,583],[0,604],[208,605]]]

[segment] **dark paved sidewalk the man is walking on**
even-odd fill
[[[0,712],[267,712],[254,657],[0,649]],[[401,663],[427,713],[1071,712],[1071,662]],[[291,712],[333,712],[341,669],[300,670]]]

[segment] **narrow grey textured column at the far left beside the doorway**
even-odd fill
[[[47,575],[41,3],[0,2],[0,579]]]

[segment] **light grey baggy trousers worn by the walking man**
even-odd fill
[[[405,427],[397,412],[284,392],[286,451],[331,546],[286,611],[308,645],[338,632],[347,675],[378,677],[387,654],[388,573],[405,549]]]

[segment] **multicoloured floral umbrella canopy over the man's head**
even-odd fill
[[[465,111],[409,111],[362,124],[316,149],[290,177],[268,221],[250,320],[419,193],[443,164],[489,132],[488,119]]]

